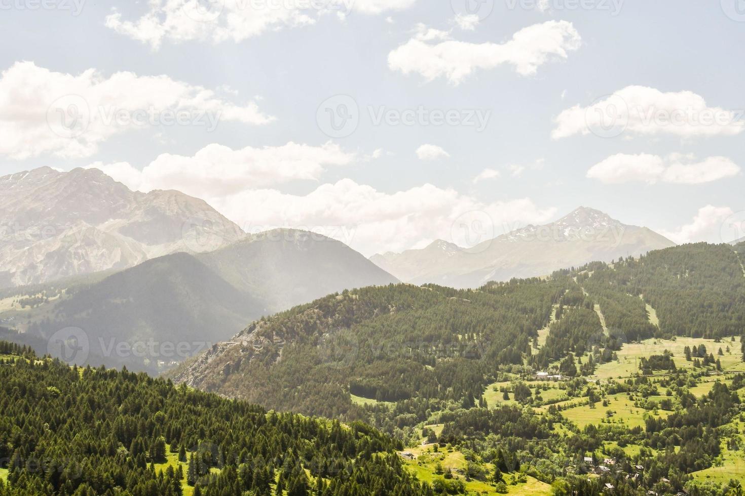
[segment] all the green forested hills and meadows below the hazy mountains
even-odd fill
[[[180,386],[3,344],[0,495],[738,494],[740,249],[331,294]]]

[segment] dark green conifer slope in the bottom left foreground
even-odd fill
[[[0,495],[431,495],[389,437],[0,342]]]

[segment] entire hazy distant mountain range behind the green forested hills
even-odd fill
[[[80,329],[84,363],[158,373],[247,322],[346,289],[404,281],[454,288],[533,277],[673,245],[580,207],[473,248],[437,241],[367,260],[341,242],[278,229],[247,235],[178,191],[140,193],[95,169],[0,178],[0,337],[48,352]],[[4,288],[4,289],[3,289]],[[186,343],[146,358],[112,344]],[[152,355],[152,354],[150,354]]]

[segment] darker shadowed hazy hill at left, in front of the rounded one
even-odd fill
[[[14,317],[11,323],[22,331],[13,340],[41,347],[39,352],[55,350],[48,343],[60,329],[77,328],[72,333],[86,347],[76,363],[154,373],[159,361],[166,366],[201,352],[263,309],[263,302],[237,291],[193,255],[177,253],[2,315]]]

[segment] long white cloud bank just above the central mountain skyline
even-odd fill
[[[142,172],[121,163],[91,167],[136,190],[176,189],[197,196],[247,232],[305,229],[338,239],[366,255],[403,251],[424,239],[469,245],[467,233],[456,223],[464,218],[490,223],[482,227],[497,236],[504,226],[542,224],[556,215],[556,208],[537,207],[527,198],[485,203],[431,184],[394,193],[352,179],[321,184],[307,194],[263,186],[293,178],[314,180],[320,170],[352,160],[331,144],[235,151],[212,145],[192,158],[161,155]]]

